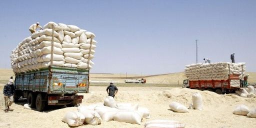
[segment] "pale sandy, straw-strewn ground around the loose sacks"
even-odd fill
[[[3,84],[0,84],[2,90]],[[83,93],[81,105],[103,103],[106,86],[90,86],[90,93]],[[141,125],[109,121],[100,125],[85,124],[79,127],[144,127],[147,120],[178,120],[186,127],[256,127],[256,118],[232,114],[237,104],[256,107],[256,98],[243,98],[235,94],[218,95],[210,91],[171,87],[118,87],[116,102],[138,103],[150,110],[149,119],[142,119]],[[203,110],[189,109],[188,113],[173,112],[169,109],[171,101],[177,101],[188,107],[192,103],[192,93],[200,92],[203,96]],[[5,113],[3,94],[0,93],[0,127],[69,127],[61,119],[69,110],[76,107],[49,108],[43,112],[23,108],[25,101],[13,103],[11,111]]]

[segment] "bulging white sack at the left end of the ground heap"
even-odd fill
[[[83,124],[84,115],[76,111],[67,111],[62,118],[63,122],[66,122],[69,126],[79,126]]]

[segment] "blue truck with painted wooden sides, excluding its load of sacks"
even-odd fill
[[[49,66],[38,71],[15,74],[14,101],[27,98],[38,111],[46,105],[74,106],[89,91],[89,69]]]

